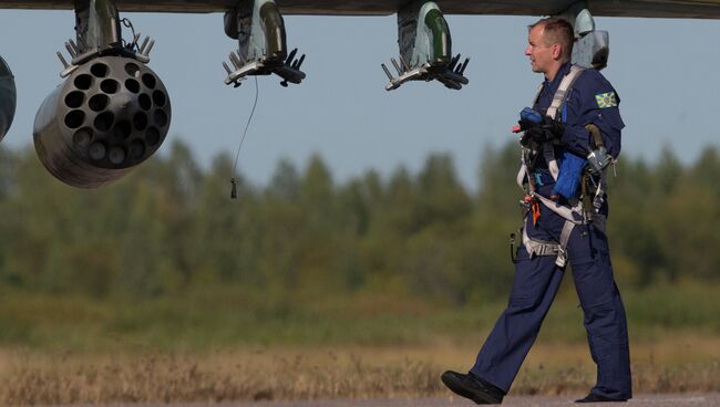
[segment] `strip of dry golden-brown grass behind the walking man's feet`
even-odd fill
[[[212,354],[0,353],[0,404],[393,398],[446,395],[445,368],[476,348],[255,348]],[[720,341],[676,338],[632,348],[637,393],[719,392]],[[583,394],[594,380],[584,345],[538,344],[513,394]]]

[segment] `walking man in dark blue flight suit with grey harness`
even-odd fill
[[[567,176],[565,161],[580,161],[583,168],[589,168],[586,164],[592,161],[593,152],[599,152],[598,144],[617,157],[625,127],[618,109],[620,100],[609,82],[595,70],[570,64],[573,42],[573,27],[558,18],[539,20],[528,30],[525,55],[533,71],[545,75],[533,106],[543,118],[539,123],[521,121],[525,132],[518,184],[527,192],[528,209],[510,302],[470,372],[442,375],[451,390],[477,404],[500,404],[510,390],[555,299],[565,259],[572,264],[590,354],[597,365],[595,387],[576,403],[632,397],[625,309],[613,278],[605,234],[605,190],[593,187],[595,194],[583,189],[585,196],[578,190],[557,194],[560,179]],[[563,83],[566,76],[574,79]],[[584,169],[583,174],[592,185],[603,186],[606,168],[596,169]],[[583,199],[592,200],[590,211],[580,209],[588,207]]]

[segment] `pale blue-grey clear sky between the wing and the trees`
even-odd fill
[[[172,101],[174,139],[188,144],[209,166],[234,155],[255,96],[254,80],[226,86],[222,67],[237,42],[225,36],[223,15],[123,13],[135,30],[156,40],[150,67]],[[475,188],[484,148],[513,139],[510,128],[542,75],[524,55],[534,17],[446,15],[453,52],[471,58],[470,84],[451,91],[436,82],[411,82],[387,92],[380,64],[398,54],[397,18],[285,17],[288,46],[307,58],[307,79],[280,87],[260,76],[257,111],[240,152],[239,170],[263,185],[277,161],[302,168],[319,153],[336,181],[398,166],[419,171],[431,153],[453,156],[457,175]],[[623,155],[656,160],[670,147],[691,163],[718,146],[720,125],[720,21],[596,18],[610,33],[604,71],[621,98],[627,125]],[[71,11],[0,10],[0,55],[10,64],[18,107],[4,146],[32,144],[32,125],[45,96],[61,84],[55,51],[74,39]],[[130,34],[125,34],[130,36]],[[152,158],[151,158],[152,159]],[[38,161],[38,165],[41,165]],[[619,168],[621,171],[621,168]],[[50,175],[49,175],[50,177]]]

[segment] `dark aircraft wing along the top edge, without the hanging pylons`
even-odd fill
[[[575,1],[438,0],[445,14],[557,14]],[[0,9],[72,9],[73,0],[0,0]],[[392,14],[404,0],[279,0],[282,14],[372,15]],[[220,12],[237,0],[115,0],[121,11]],[[720,0],[593,0],[594,15],[720,19]]]

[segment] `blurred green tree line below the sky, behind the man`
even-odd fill
[[[31,149],[0,149],[0,285],[97,300],[238,286],[268,301],[383,292],[464,304],[502,299],[508,234],[521,225],[516,146],[485,148],[473,191],[452,157],[412,174],[338,182],[319,156],[280,160],[268,185],[232,159],[203,169],[179,143],[124,179],[80,190]],[[720,157],[670,152],[621,159],[610,177],[609,237],[623,284],[720,279]]]

